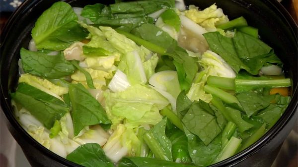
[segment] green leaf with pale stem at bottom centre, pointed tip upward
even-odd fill
[[[173,161],[171,153],[171,141],[165,135],[167,118],[162,119],[144,135],[144,140],[154,154],[160,160]]]

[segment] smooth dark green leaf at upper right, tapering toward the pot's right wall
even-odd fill
[[[268,54],[272,50],[270,46],[261,40],[240,31],[236,31],[233,41],[236,52],[241,59],[251,59]]]

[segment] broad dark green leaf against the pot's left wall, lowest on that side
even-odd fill
[[[69,111],[66,103],[27,83],[19,83],[11,97],[48,129]]]

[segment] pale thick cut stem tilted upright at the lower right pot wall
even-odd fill
[[[242,139],[238,139],[234,136],[228,141],[228,143],[224,146],[224,149],[220,152],[217,158],[213,161],[213,163],[221,162],[231,156],[233,156],[238,150]]]

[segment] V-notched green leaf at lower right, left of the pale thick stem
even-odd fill
[[[205,145],[200,138],[192,134],[187,129],[184,129],[188,140],[188,152],[196,166],[209,166],[213,160],[221,152],[222,149],[222,135],[219,134],[212,140],[211,143]]]

